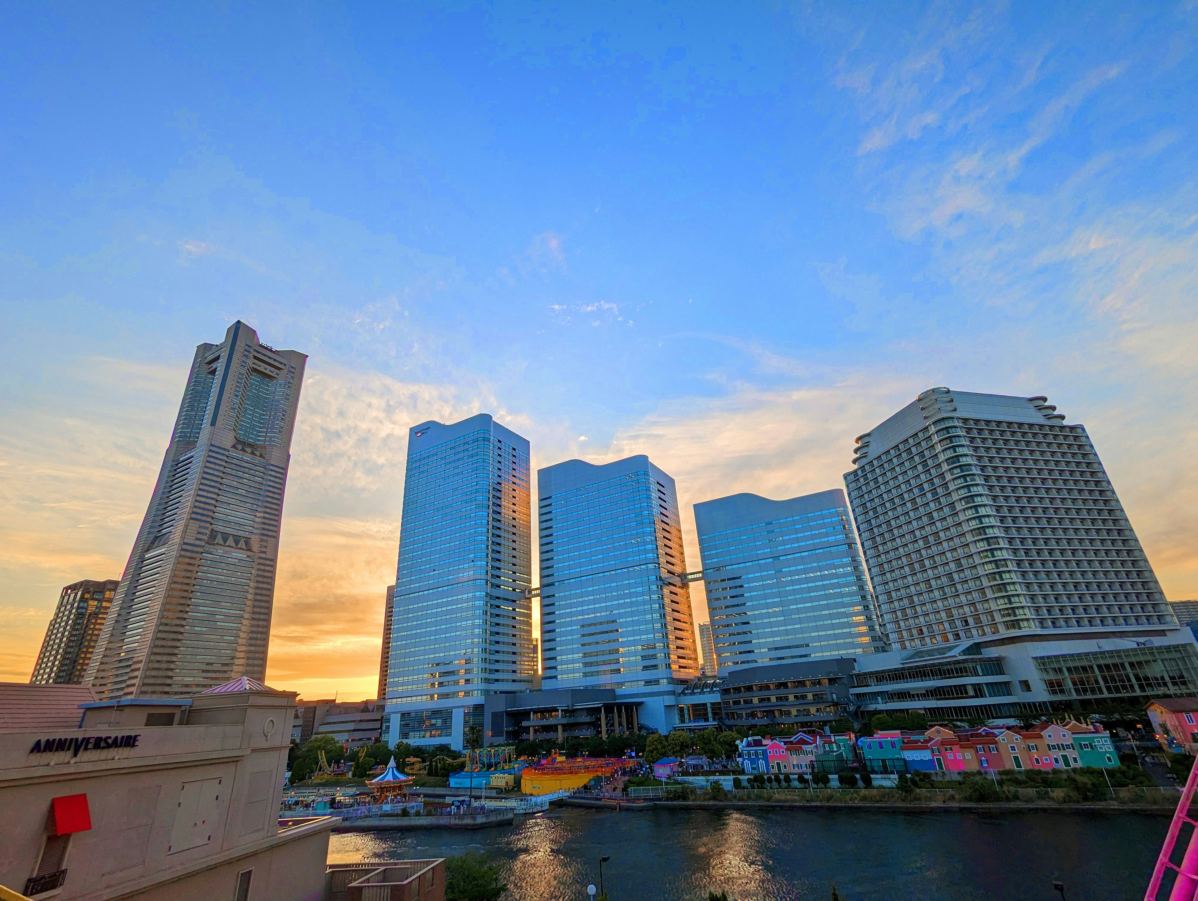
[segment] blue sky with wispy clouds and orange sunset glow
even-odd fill
[[[371,694],[407,426],[478,410],[689,504],[836,487],[933,384],[1047,394],[1198,596],[1194,0],[0,28],[0,677],[122,568],[236,317],[310,354],[271,662],[308,693]]]

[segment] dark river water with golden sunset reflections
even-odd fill
[[[1126,901],[1143,897],[1167,816],[555,808],[515,827],[339,833],[331,863],[486,851],[518,901]]]

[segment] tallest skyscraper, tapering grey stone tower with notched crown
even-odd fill
[[[307,357],[235,322],[195,349],[86,681],[177,698],[266,677],[283,489]]]

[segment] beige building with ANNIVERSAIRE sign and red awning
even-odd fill
[[[295,694],[241,678],[79,710],[63,687],[0,688],[0,885],[55,901],[325,897],[338,821],[278,826]]]

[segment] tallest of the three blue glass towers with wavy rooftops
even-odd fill
[[[389,743],[462,747],[488,694],[532,687],[528,440],[486,414],[407,439]]]

